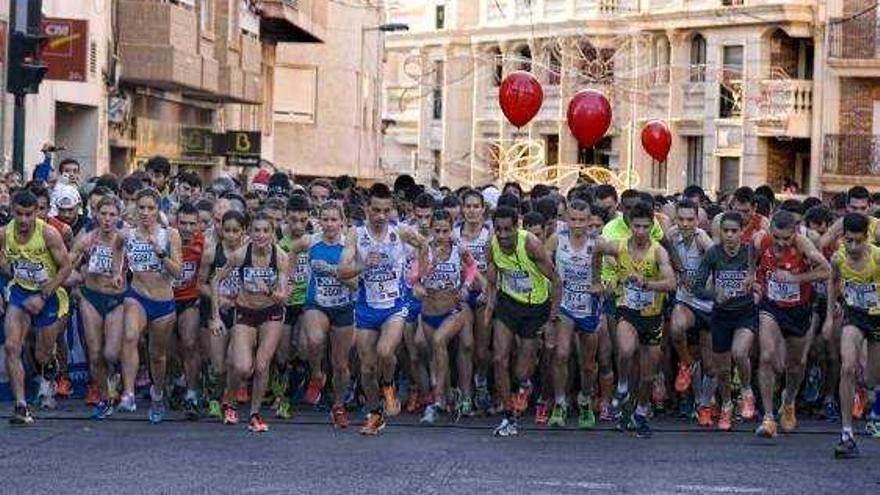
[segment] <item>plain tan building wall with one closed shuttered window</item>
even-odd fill
[[[379,8],[330,2],[323,44],[278,46],[270,159],[298,176],[384,179]]]

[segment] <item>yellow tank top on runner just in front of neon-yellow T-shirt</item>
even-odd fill
[[[665,292],[645,290],[626,282],[631,275],[641,275],[645,280],[657,280],[660,277],[660,266],[657,264],[659,244],[651,241],[645,257],[638,262],[629,253],[629,239],[620,240],[618,246],[617,274],[620,284],[617,287],[617,305],[637,310],[646,317],[660,315],[663,312]]]

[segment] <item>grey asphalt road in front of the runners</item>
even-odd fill
[[[373,438],[334,432],[317,412],[261,435],[207,420],[154,426],[143,411],[98,423],[86,412],[25,428],[0,418],[0,493],[880,493],[880,440],[860,436],[862,458],[835,460],[837,427],[822,422],[773,441],[751,425],[723,434],[678,420],[655,422],[651,439],[607,424],[494,438],[486,419],[421,427],[405,416]]]

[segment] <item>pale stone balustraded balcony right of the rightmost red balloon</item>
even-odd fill
[[[759,83],[757,116],[761,137],[809,138],[812,133],[813,81],[771,79]]]

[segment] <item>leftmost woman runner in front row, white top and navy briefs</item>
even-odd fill
[[[95,208],[97,228],[77,238],[70,252],[71,265],[79,285],[83,331],[89,358],[89,376],[98,393],[92,417],[105,419],[113,414],[111,392],[115,385],[123,338],[123,276],[125,240],[116,229],[121,205],[115,196],[105,196]],[[73,276],[71,278],[74,278]],[[113,376],[114,385],[108,380]],[[112,390],[111,390],[112,389]]]

